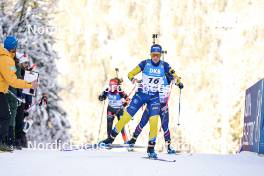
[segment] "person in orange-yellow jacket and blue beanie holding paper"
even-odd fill
[[[4,48],[0,46],[0,151],[10,151],[5,144],[8,134],[8,125],[10,119],[10,110],[6,93],[9,86],[14,88],[32,88],[38,86],[37,81],[28,83],[18,79],[16,76],[16,66],[14,56],[17,48],[17,39],[14,36],[8,36],[4,41]]]

